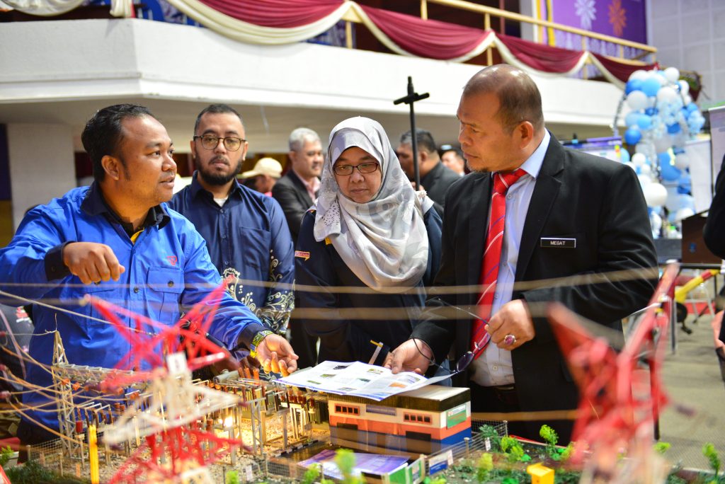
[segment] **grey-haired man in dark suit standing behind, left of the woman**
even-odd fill
[[[320,174],[323,157],[320,136],[308,128],[297,128],[289,135],[290,169],[272,188],[272,196],[279,202],[287,219],[292,241],[297,245],[299,225],[307,209],[317,199],[320,190]],[[295,306],[299,306],[295,297]],[[289,342],[299,355],[299,368],[314,366],[317,363],[317,338],[312,338],[295,319],[289,320]]]

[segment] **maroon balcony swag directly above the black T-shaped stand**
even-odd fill
[[[419,57],[455,59],[468,54],[488,35],[477,28],[423,20],[365,5],[360,5],[360,8],[401,49]]]

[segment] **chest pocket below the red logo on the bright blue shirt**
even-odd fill
[[[183,272],[173,267],[149,267],[146,284],[149,317],[173,325],[179,317],[179,299],[184,290]]]

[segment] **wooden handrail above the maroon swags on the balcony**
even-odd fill
[[[588,38],[596,38],[600,41],[605,42],[611,42],[616,43],[618,46],[623,47],[632,47],[634,49],[640,49],[642,51],[647,51],[650,54],[656,54],[657,48],[653,46],[648,46],[646,43],[639,43],[639,42],[632,42],[627,41],[622,38],[612,37],[612,36],[605,36],[601,33],[596,32],[589,32],[589,30],[584,30],[581,28],[576,27],[570,27],[568,25],[563,25],[555,22],[549,22],[548,20],[539,20],[535,19],[534,17],[528,17],[526,15],[517,14],[515,12],[507,12],[502,9],[497,9],[494,7],[486,7],[485,5],[479,5],[479,4],[472,4],[470,1],[465,0],[421,0],[421,17],[423,17],[423,12],[425,12],[425,19],[428,18],[428,6],[427,3],[433,3],[433,4],[439,4],[439,5],[445,5],[447,7],[453,7],[456,9],[463,9],[468,10],[469,12],[477,12],[484,14],[486,17],[489,17],[490,15],[494,15],[495,17],[502,17],[508,20],[515,20],[517,22],[524,22],[524,23],[530,23],[533,25],[540,25],[542,27],[547,28],[555,28],[556,30],[561,30],[563,32],[569,32],[569,33],[575,33],[579,36],[584,36]],[[489,20],[490,22],[490,20]],[[490,23],[489,23],[490,25]],[[622,55],[622,51],[624,49],[620,50],[620,57],[624,57]]]

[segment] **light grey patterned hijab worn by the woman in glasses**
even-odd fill
[[[365,204],[344,196],[332,167],[340,154],[357,146],[379,163],[383,179]],[[314,235],[326,238],[347,267],[376,291],[402,293],[414,287],[428,266],[428,232],[423,214],[432,206],[425,192],[415,193],[377,121],[352,117],[330,133]]]

